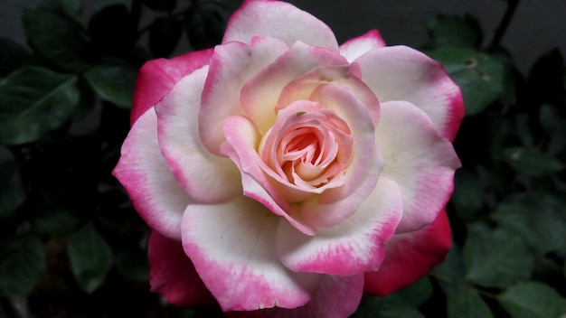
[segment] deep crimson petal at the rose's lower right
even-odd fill
[[[365,291],[383,296],[414,283],[444,260],[452,238],[446,212],[416,232],[396,234],[385,244],[382,267],[365,273]]]

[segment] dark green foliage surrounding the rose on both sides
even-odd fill
[[[137,70],[210,47],[237,1],[80,1],[24,8],[32,51],[0,39],[0,295],[10,316],[211,317],[151,294],[148,228],[111,176]],[[149,21],[149,23],[146,23]],[[142,23],[143,22],[143,23]],[[471,16],[427,23],[423,50],[462,89],[463,167],[445,262],[354,317],[560,317],[566,313],[566,67],[528,74]],[[128,295],[125,297],[124,295]]]

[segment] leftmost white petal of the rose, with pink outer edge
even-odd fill
[[[192,200],[175,182],[159,151],[154,108],[132,126],[112,173],[149,226],[168,238],[181,239],[183,211]]]

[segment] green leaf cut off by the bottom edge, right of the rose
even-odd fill
[[[450,285],[446,292],[448,318],[489,318],[493,313],[475,289],[466,285]]]

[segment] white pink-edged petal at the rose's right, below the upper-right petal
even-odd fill
[[[427,114],[404,101],[382,103],[376,137],[385,161],[381,176],[397,182],[403,194],[397,233],[421,229],[448,202],[458,156]]]

